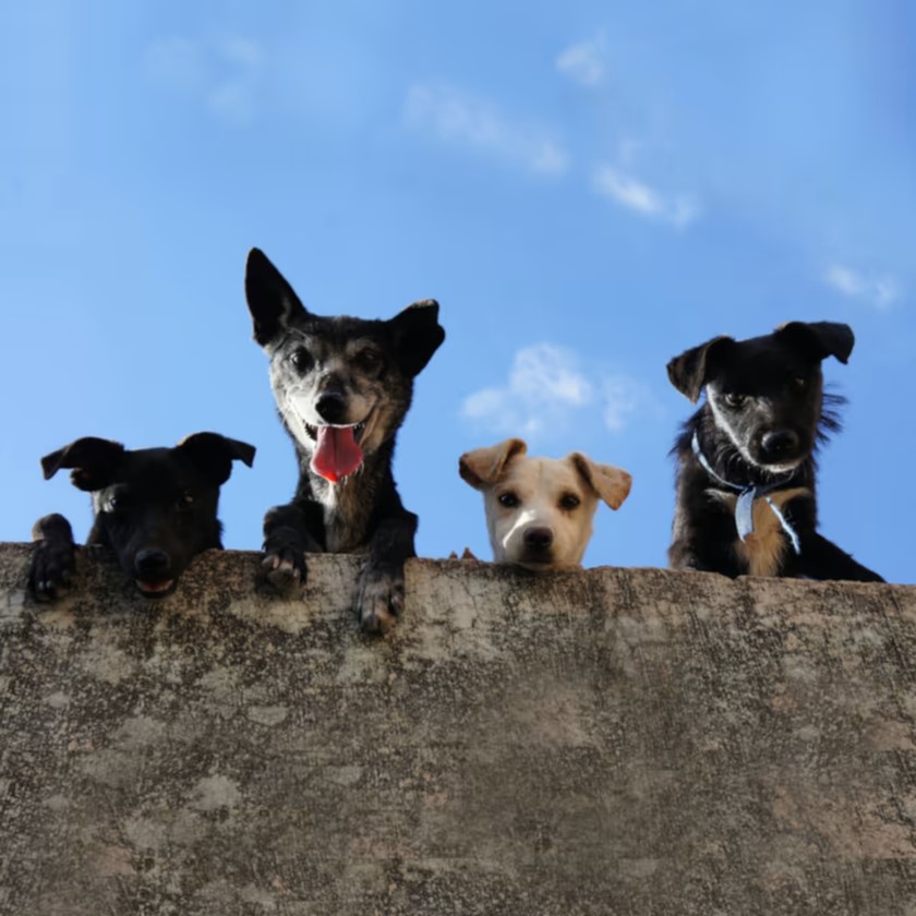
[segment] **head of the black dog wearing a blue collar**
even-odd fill
[[[703,388],[718,429],[751,465],[781,473],[813,450],[823,408],[821,361],[845,363],[852,328],[790,322],[749,340],[715,337],[667,364],[671,383],[696,403]]]

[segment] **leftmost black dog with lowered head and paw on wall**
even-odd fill
[[[41,459],[45,479],[73,468],[74,486],[92,493],[95,518],[87,544],[112,550],[140,591],[160,598],[174,590],[191,558],[222,549],[216,517],[219,486],[232,461],[251,467],[254,446],[216,433],[196,433],[174,448],[128,451],[109,439],[81,438]],[[38,519],[29,586],[41,601],[70,581],[73,531],[61,515]]]

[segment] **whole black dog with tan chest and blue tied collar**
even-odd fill
[[[667,364],[668,378],[706,403],[677,439],[677,505],[668,562],[726,576],[880,582],[817,533],[815,450],[839,429],[821,360],[845,363],[844,324],[791,322],[750,340],[716,337]]]

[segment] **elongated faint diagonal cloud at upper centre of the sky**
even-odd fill
[[[418,131],[432,131],[442,142],[534,173],[562,174],[568,167],[566,150],[549,130],[508,118],[491,101],[448,86],[413,86],[405,103],[405,120]]]

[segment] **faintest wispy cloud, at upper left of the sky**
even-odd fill
[[[172,36],[146,52],[146,69],[154,80],[198,98],[213,113],[238,124],[254,117],[263,68],[261,46],[242,37]]]

